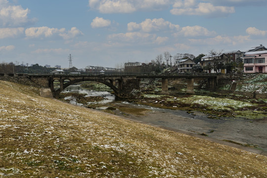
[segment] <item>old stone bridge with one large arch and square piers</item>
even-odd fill
[[[34,83],[44,88],[50,88],[53,96],[57,96],[63,89],[70,85],[83,82],[94,81],[105,84],[114,90],[115,95],[119,97],[127,96],[133,89],[139,89],[140,79],[161,79],[162,93],[168,94],[168,79],[185,78],[187,81],[187,93],[194,93],[194,79],[206,78],[208,80],[208,89],[217,88],[216,74],[167,74],[155,75],[152,73],[64,73],[64,74],[28,74],[27,77]],[[59,81],[59,89],[54,88],[54,81]]]

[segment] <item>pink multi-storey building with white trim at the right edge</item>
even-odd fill
[[[267,50],[246,52],[243,58],[245,73],[267,73]]]

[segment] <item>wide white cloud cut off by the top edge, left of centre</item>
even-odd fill
[[[132,13],[138,10],[167,9],[172,0],[89,0],[90,8],[101,13]]]

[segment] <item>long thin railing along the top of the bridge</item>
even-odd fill
[[[216,73],[155,73],[155,72],[31,72],[29,76],[216,76]]]

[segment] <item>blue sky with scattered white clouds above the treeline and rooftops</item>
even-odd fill
[[[267,0],[0,0],[0,63],[116,67],[267,47]]]

